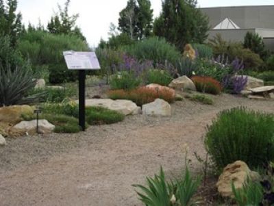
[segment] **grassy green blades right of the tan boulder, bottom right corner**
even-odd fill
[[[262,185],[249,179],[244,183],[243,188],[236,189],[232,182],[234,200],[238,206],[260,205],[263,198]]]

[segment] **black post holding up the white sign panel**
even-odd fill
[[[79,126],[82,130],[86,129],[86,116],[85,116],[85,81],[86,73],[85,70],[79,70]]]

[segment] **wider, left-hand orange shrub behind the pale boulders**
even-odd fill
[[[131,100],[136,105],[142,106],[146,103],[151,103],[155,99],[164,99],[169,103],[175,101],[174,93],[171,90],[161,89],[157,90],[155,88],[147,88],[142,86],[140,88],[136,88],[134,90],[110,90],[108,92],[108,96],[110,99],[127,99]]]

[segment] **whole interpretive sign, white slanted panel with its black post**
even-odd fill
[[[79,126],[85,130],[85,70],[100,69],[100,64],[94,51],[64,51],[64,59],[69,70],[79,70]]]

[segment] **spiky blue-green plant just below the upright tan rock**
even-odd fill
[[[179,76],[186,75],[187,77],[192,77],[192,74],[197,70],[197,62],[190,60],[190,58],[182,57],[177,60],[175,64],[177,68],[177,73]]]

